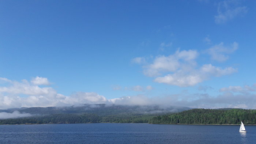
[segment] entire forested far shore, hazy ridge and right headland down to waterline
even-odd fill
[[[152,123],[152,124],[256,124],[256,110],[191,109],[179,113],[158,106],[22,108],[31,117],[0,119],[0,124]],[[184,108],[186,109],[186,108]],[[17,109],[16,109],[17,110]],[[180,109],[181,110],[181,109]],[[158,111],[158,113],[156,112]],[[24,111],[23,111],[24,112]],[[160,113],[159,113],[160,112]],[[167,113],[168,112],[168,113]],[[164,114],[164,115],[163,115]]]

